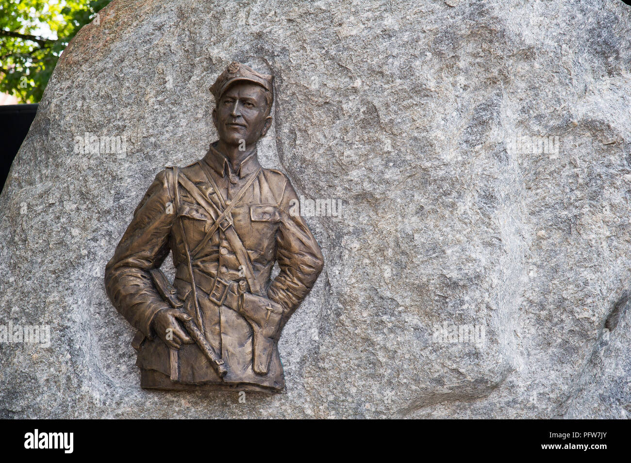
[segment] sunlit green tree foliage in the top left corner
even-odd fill
[[[0,91],[42,99],[71,38],[111,0],[0,0]]]

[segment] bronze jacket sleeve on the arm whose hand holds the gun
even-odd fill
[[[175,222],[172,170],[163,170],[134,211],[114,257],[105,266],[105,289],[112,304],[129,323],[152,339],[151,321],[170,306],[158,294],[149,270],[159,268],[169,251]]]

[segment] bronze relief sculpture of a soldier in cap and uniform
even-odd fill
[[[290,181],[257,159],[273,76],[233,62],[210,90],[219,140],[196,163],[156,175],[107,263],[105,287],[138,329],[142,387],[280,392],[280,333],[324,261],[290,213]],[[160,270],[169,251],[173,283]]]

